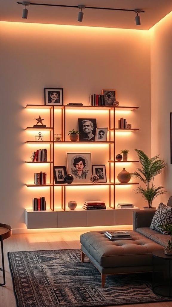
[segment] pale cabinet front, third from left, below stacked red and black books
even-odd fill
[[[87,210],[87,226],[110,226],[115,224],[115,210]]]

